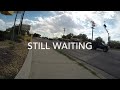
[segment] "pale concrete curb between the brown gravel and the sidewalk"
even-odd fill
[[[21,70],[16,75],[15,79],[28,79],[29,78],[31,62],[32,62],[32,50],[29,50],[27,58],[25,59],[25,62]]]

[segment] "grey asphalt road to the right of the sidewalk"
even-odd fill
[[[40,39],[38,41],[47,42],[49,46],[52,46],[53,42],[53,40],[47,39]],[[120,78],[120,50],[109,50],[106,53],[102,50],[64,49],[62,52],[82,60],[87,64],[106,72],[114,78]]]

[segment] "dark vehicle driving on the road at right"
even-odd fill
[[[96,41],[92,42],[92,48],[93,48],[93,50],[96,50],[97,48],[102,49],[103,52],[107,52],[109,50],[108,45],[106,45],[105,43],[96,42]]]

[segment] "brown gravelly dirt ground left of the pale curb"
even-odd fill
[[[14,79],[28,54],[27,44],[0,41],[0,79]]]

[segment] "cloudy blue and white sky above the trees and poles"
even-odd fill
[[[20,23],[18,14],[16,24]],[[5,16],[0,14],[0,30],[13,26],[15,14]],[[91,21],[95,22],[93,38],[102,37],[105,42],[108,34],[103,27],[105,23],[111,40],[120,41],[120,12],[119,11],[26,11],[23,24],[31,25],[30,33],[39,33],[41,36],[61,37],[73,33],[86,34],[92,38]]]

